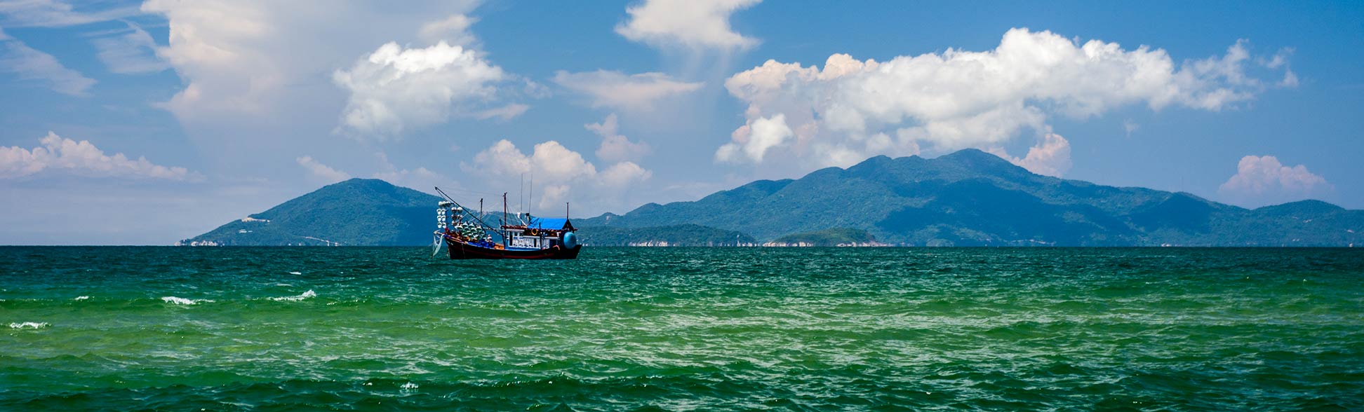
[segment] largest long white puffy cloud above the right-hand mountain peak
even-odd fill
[[[1042,141],[1034,158],[1050,156],[1046,164],[1060,166],[1068,164],[1060,157],[1069,150],[1060,145],[1064,139],[1049,136],[1050,116],[1086,119],[1133,104],[1154,111],[1233,108],[1267,87],[1247,74],[1248,61],[1244,41],[1224,56],[1176,64],[1162,49],[1080,44],[1027,29],[1009,30],[986,52],[948,49],[888,61],[833,55],[822,70],[768,60],[726,80],[730,94],[747,104],[747,121],[716,150],[716,160],[756,164],[772,157],[753,153],[779,150],[788,154],[780,160],[805,166],[848,165],[874,154],[914,154],[922,146],[998,147],[1031,130]],[[779,145],[754,142],[754,126],[777,115],[792,134]],[[739,151],[750,156],[735,157]]]

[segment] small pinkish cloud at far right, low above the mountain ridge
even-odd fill
[[[1247,206],[1260,206],[1329,195],[1334,187],[1304,165],[1285,166],[1273,156],[1247,156],[1236,165],[1236,175],[1218,187],[1225,199]]]

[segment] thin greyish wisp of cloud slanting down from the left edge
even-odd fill
[[[35,50],[22,41],[0,31],[0,72],[10,72],[23,80],[38,80],[53,91],[86,95],[94,80],[67,68],[52,55]]]

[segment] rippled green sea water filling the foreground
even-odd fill
[[[0,411],[1364,409],[1364,251],[0,248]]]

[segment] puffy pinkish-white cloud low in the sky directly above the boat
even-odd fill
[[[494,180],[532,177],[540,209],[557,209],[569,201],[588,205],[588,210],[600,209],[618,201],[633,184],[653,175],[630,161],[612,164],[599,172],[582,154],[555,141],[535,145],[531,154],[522,153],[509,141],[498,141],[476,154],[472,164],[461,168]]]

